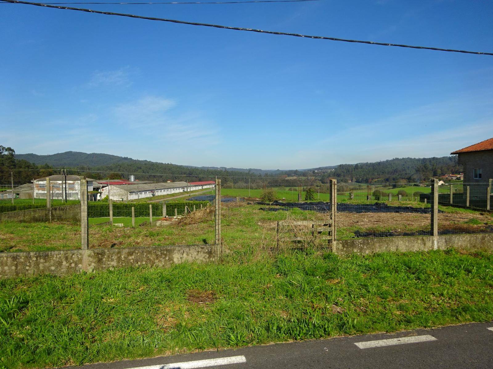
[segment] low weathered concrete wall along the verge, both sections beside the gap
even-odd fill
[[[0,253],[0,278],[58,276],[148,265],[167,268],[183,262],[216,260],[218,246],[151,246]],[[493,250],[493,234],[388,237],[336,241],[333,252],[371,254],[387,251],[428,251],[447,248]]]

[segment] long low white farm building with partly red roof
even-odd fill
[[[162,196],[171,193],[195,191],[204,188],[213,188],[214,181],[203,182],[159,182],[122,184],[121,182],[101,181],[106,187],[101,189],[101,197],[116,201],[143,199],[145,197]]]

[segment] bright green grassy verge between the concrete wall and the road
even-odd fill
[[[237,251],[218,265],[0,280],[0,368],[493,319],[493,254]]]

